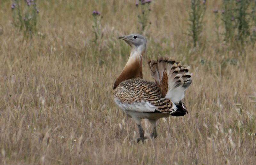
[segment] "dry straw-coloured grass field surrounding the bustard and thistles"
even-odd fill
[[[38,1],[46,37],[26,39],[12,24],[11,1],[1,0],[0,164],[256,162],[256,45],[242,51],[217,40],[212,10],[221,0],[207,2],[196,48],[185,34],[188,0],[150,4],[144,79],[152,80],[146,60],[168,54],[191,66],[193,82],[189,114],[160,119],[156,139],[136,142],[138,128],[112,92],[130,54],[117,37],[138,32],[135,2]],[[98,45],[93,10],[103,16]],[[147,120],[143,127],[151,133]]]

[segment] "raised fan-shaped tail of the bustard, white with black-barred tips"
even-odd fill
[[[184,67],[180,62],[159,56],[157,61],[149,60],[151,76],[155,79],[157,86],[165,98],[175,104],[184,98],[184,91],[192,83],[190,67]]]

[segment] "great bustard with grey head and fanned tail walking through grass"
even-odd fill
[[[137,142],[147,139],[141,126],[142,119],[148,119],[153,127],[150,138],[157,137],[156,122],[163,117],[184,116],[187,107],[182,102],[184,91],[192,83],[190,67],[180,62],[158,56],[157,60],[148,59],[151,77],[155,81],[143,80],[142,57],[147,48],[146,39],[139,34],[120,36],[131,47],[129,59],[116,78],[113,95],[116,104],[137,124],[140,137]]]

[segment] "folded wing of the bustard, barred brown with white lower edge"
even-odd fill
[[[164,98],[155,82],[142,79],[123,81],[115,89],[114,96],[124,109],[133,108],[133,110],[144,112],[171,113],[176,108],[169,99]]]

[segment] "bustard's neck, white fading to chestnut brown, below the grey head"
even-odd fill
[[[141,78],[142,79],[142,53],[137,49],[132,49],[130,57],[121,72],[117,77],[113,89],[115,89],[119,83],[125,80],[132,78]]]

